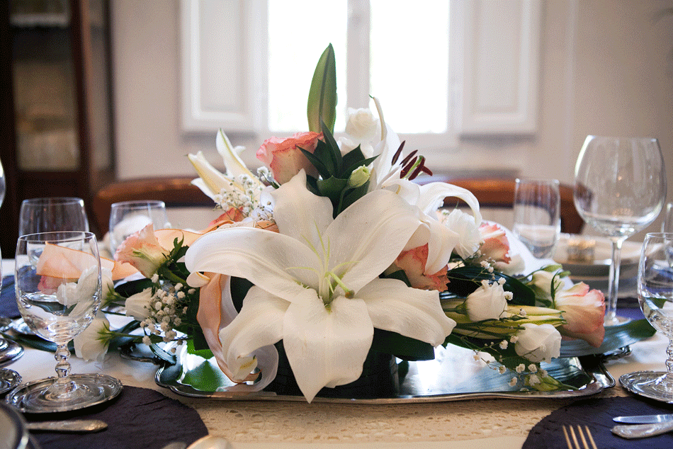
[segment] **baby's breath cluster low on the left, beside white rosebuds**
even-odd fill
[[[157,283],[156,276],[152,276],[155,283]],[[163,335],[164,343],[177,341],[178,345],[181,345],[183,341],[177,338],[178,333],[175,328],[182,324],[181,316],[187,313],[186,302],[184,302],[186,294],[193,295],[194,292],[196,290],[193,288],[185,292],[184,286],[180,283],[176,285],[164,284],[164,288],[157,289],[152,295],[152,299],[146,306],[147,318],[140,322],[140,327],[149,334]],[[152,344],[149,334],[142,339],[142,342],[148,346]],[[176,348],[171,348],[171,352],[175,353]]]

